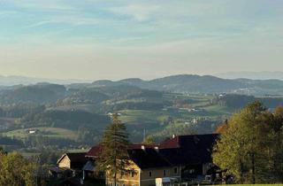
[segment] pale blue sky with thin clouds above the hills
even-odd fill
[[[0,74],[279,71],[282,23],[282,0],[0,0]]]

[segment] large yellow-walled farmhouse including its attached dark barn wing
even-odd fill
[[[204,179],[215,167],[212,146],[218,135],[174,136],[155,146],[134,145],[127,150],[130,161],[118,174],[117,186],[151,186],[156,180]],[[114,186],[106,173],[106,185]]]

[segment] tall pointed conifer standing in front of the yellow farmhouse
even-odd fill
[[[96,160],[96,167],[111,176],[115,186],[117,175],[126,171],[128,143],[125,124],[119,120],[118,114],[113,114],[112,123],[105,129],[103,140],[100,143],[102,151]]]

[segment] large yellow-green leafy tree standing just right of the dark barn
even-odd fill
[[[261,158],[265,153],[263,138],[269,134],[269,129],[264,128],[271,120],[267,116],[261,103],[248,105],[233,115],[214,147],[213,162],[233,174],[238,182],[255,183],[260,177],[259,165],[264,163]]]

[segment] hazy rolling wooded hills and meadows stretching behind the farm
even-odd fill
[[[233,112],[255,100],[271,109],[283,105],[279,95],[257,92],[247,96],[251,88],[242,89],[275,91],[276,84],[281,89],[280,83],[178,75],[153,81],[3,87],[0,132],[5,138],[0,142],[11,149],[88,147],[99,142],[113,112],[126,123],[133,142],[144,137],[158,142],[172,135],[211,133]]]

